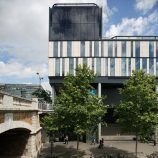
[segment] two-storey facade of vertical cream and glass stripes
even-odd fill
[[[158,77],[158,41],[49,42],[49,76],[75,74],[78,64],[87,64],[97,76],[130,76],[142,69]]]

